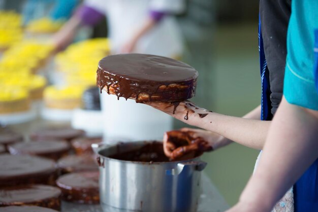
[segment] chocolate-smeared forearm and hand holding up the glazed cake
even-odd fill
[[[261,114],[260,106],[243,118],[239,118],[209,112],[188,101],[180,102],[174,114],[173,104],[167,102],[149,102],[148,104],[184,123],[224,136],[228,139],[227,142],[229,143],[230,140],[233,140],[233,142],[258,150],[263,149],[266,134],[271,123],[270,121],[259,120]],[[206,116],[200,118],[199,114],[206,114]],[[187,119],[185,119],[186,116]]]

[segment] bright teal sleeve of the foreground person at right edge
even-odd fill
[[[293,0],[287,35],[283,94],[289,103],[318,110],[314,83],[314,30],[318,28],[318,0]]]

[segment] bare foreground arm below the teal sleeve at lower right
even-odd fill
[[[282,99],[259,166],[229,211],[270,211],[318,157],[318,111]],[[266,198],[264,198],[266,197]]]

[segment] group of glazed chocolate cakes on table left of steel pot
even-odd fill
[[[61,200],[74,203],[72,208],[98,204],[98,165],[90,145],[102,139],[83,135],[82,130],[49,127],[31,132],[26,142],[1,128],[0,143],[10,154],[0,154],[0,211],[60,211]]]

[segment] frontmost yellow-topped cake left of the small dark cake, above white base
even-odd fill
[[[78,86],[48,86],[44,90],[45,107],[49,109],[72,110],[79,108],[84,89]]]

